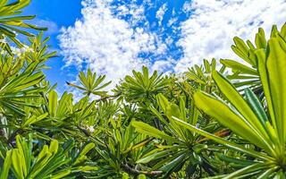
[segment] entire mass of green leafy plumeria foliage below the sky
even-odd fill
[[[19,15],[28,4],[0,3],[1,33],[29,37],[24,50],[1,48],[1,179],[285,178],[286,25],[269,40],[259,29],[255,45],[234,38],[244,63],[204,60],[180,75],[143,66],[114,94],[88,69],[67,82],[75,99],[46,81],[56,53],[44,33],[19,31],[34,28]]]

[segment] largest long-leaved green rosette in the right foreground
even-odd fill
[[[247,149],[249,155],[264,160],[242,168],[231,176],[251,175],[256,173],[264,177],[279,177],[285,167],[285,83],[276,81],[285,75],[286,64],[285,41],[277,35],[270,38],[267,51],[256,51],[257,66],[260,80],[265,93],[265,104],[262,103],[252,90],[245,90],[245,98],[235,90],[229,81],[217,72],[213,79],[231,107],[221,99],[198,92],[195,101],[206,114],[214,116],[221,124],[237,133],[241,138],[255,144],[260,153]],[[215,106],[216,109],[210,107]],[[223,111],[218,113],[217,111]],[[237,147],[233,147],[237,148]],[[241,146],[240,149],[243,149]],[[253,174],[252,174],[253,175]],[[230,177],[230,176],[229,176]]]

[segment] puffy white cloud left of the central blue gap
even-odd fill
[[[117,82],[132,69],[149,64],[139,55],[155,51],[157,38],[156,34],[132,28],[132,22],[114,15],[110,3],[84,1],[82,20],[63,29],[59,40],[67,66],[75,64],[82,68],[82,64],[88,64],[93,71],[106,74],[107,80]],[[121,12],[135,14],[135,19],[139,19],[139,12],[130,12],[129,8],[122,6]]]

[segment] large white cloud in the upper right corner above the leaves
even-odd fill
[[[193,11],[189,20],[181,22],[178,46],[184,56],[174,67],[182,72],[203,58],[236,58],[231,52],[232,38],[238,36],[253,40],[258,27],[266,32],[273,24],[286,21],[286,3],[283,0],[193,0],[184,5],[184,11]]]

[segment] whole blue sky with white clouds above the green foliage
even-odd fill
[[[90,68],[114,81],[132,69],[184,72],[203,59],[231,58],[232,38],[254,40],[286,21],[285,0],[32,0],[24,10],[49,28],[58,57],[47,64],[57,90]]]

